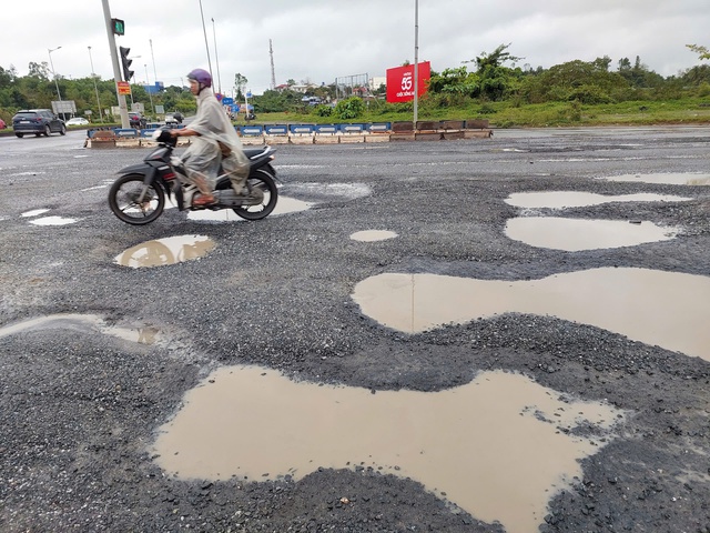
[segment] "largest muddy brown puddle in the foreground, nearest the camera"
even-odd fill
[[[621,418],[503,372],[443,392],[373,394],[231,366],[186,394],[153,451],[181,479],[298,480],[318,467],[373,467],[526,533],[557,491],[582,477],[579,461],[604,445],[569,432],[592,424],[608,442]]]

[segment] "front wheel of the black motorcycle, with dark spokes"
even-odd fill
[[[143,183],[142,174],[125,174],[111,185],[109,207],[126,224],[150,224],[163,213],[165,193]]]

